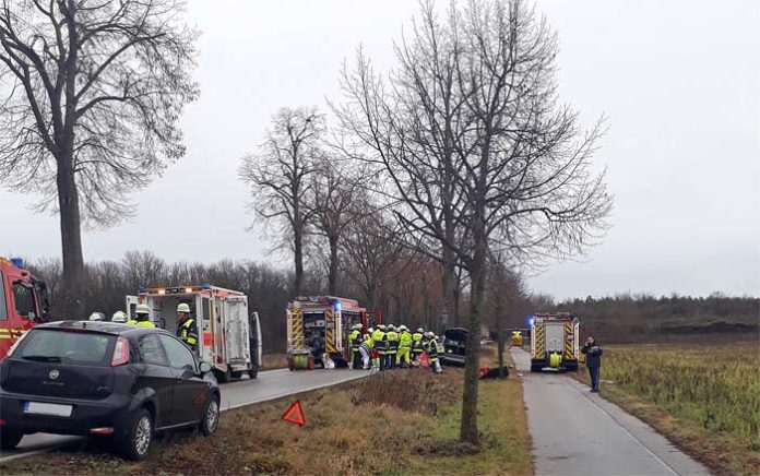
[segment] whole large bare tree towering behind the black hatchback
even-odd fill
[[[2,0],[0,176],[60,215],[67,310],[84,312],[82,224],[110,226],[127,194],[185,154],[198,96],[182,0]]]

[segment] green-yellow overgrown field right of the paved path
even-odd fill
[[[712,472],[757,475],[759,364],[757,342],[610,345],[601,392]],[[579,377],[589,381],[586,372]]]

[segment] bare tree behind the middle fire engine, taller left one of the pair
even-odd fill
[[[293,250],[296,296],[304,285],[304,239],[314,213],[308,198],[311,175],[322,156],[323,131],[324,119],[317,108],[282,108],[259,153],[245,156],[239,170],[240,179],[251,187],[256,213],[273,219],[281,243]]]

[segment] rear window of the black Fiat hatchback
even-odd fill
[[[35,329],[21,343],[26,360],[107,366],[108,348],[116,337],[91,332]]]

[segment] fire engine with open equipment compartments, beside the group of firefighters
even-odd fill
[[[334,296],[297,297],[287,304],[288,367],[312,369],[328,355],[336,366],[348,362],[348,334],[355,324],[363,333],[382,323],[379,311],[367,311],[354,299]]]

